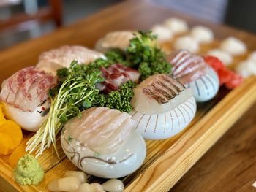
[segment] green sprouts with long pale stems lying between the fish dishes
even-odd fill
[[[37,155],[53,144],[56,147],[56,135],[59,134],[64,123],[72,117],[80,116],[82,110],[91,107],[99,90],[95,88],[97,82],[102,82],[104,78],[100,76],[98,69],[87,73],[84,65],[79,65],[73,61],[69,69],[61,69],[59,77],[63,81],[59,87],[50,91],[51,106],[48,118],[39,127],[27,143],[26,150]],[[59,89],[59,90],[58,90]],[[54,95],[54,96],[53,96]]]

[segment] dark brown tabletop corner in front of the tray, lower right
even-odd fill
[[[255,192],[256,104],[200,158],[170,192]]]

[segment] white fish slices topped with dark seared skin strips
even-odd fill
[[[167,74],[155,74],[134,89],[132,107],[143,114],[169,111],[185,101],[192,92]]]

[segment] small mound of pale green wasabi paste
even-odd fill
[[[44,178],[45,172],[37,158],[26,154],[18,161],[14,170],[15,180],[20,185],[38,185]]]

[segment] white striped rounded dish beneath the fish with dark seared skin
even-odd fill
[[[133,110],[130,114],[137,121],[135,128],[145,139],[158,140],[173,137],[186,128],[194,118],[196,108],[195,99],[191,96],[167,112],[147,115]]]

